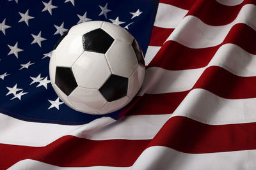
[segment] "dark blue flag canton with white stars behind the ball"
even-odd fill
[[[131,32],[147,51],[157,0],[0,1],[0,113],[30,122],[87,124],[101,115],[74,111],[49,80],[54,44],[73,25],[104,20]],[[119,111],[104,115],[118,118]]]

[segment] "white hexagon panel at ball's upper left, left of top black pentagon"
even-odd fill
[[[57,66],[71,67],[83,52],[83,36],[67,35],[54,50],[56,64]]]

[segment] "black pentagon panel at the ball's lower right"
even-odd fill
[[[100,87],[100,93],[107,101],[115,101],[127,95],[128,78],[111,74],[108,80]]]

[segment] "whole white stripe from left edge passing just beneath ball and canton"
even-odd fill
[[[124,116],[116,122],[103,117],[85,125],[58,125],[26,122],[0,114],[0,143],[45,146],[66,135],[93,140],[152,139],[169,117],[134,115]]]

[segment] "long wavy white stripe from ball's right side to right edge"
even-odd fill
[[[190,90],[204,70],[210,66],[223,67],[237,76],[256,76],[256,55],[244,51],[237,45],[225,44],[218,49],[206,67],[180,71],[149,67],[146,69],[140,95],[145,92],[147,94],[161,94]]]

